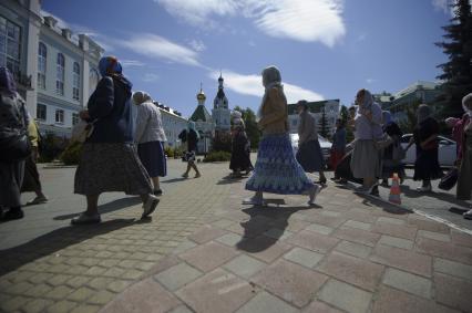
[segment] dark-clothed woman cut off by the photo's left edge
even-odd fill
[[[12,131],[27,133],[28,124],[25,104],[17,93],[13,75],[2,66],[0,67],[0,138],[2,142],[8,139]],[[4,148],[1,148],[2,155],[8,154],[3,150]],[[0,208],[9,208],[2,217],[3,220],[21,219],[24,216],[20,202],[23,175],[24,159],[0,160]]]

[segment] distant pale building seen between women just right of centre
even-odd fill
[[[308,102],[308,111],[315,117],[318,133],[321,131],[321,119],[325,114],[328,135],[336,131],[336,119],[339,117],[339,100],[326,100]],[[290,133],[297,133],[300,117],[297,113],[297,104],[288,105],[288,125]]]

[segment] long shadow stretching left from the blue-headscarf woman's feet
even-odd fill
[[[132,225],[134,225],[134,219],[115,219],[98,225],[69,226],[53,230],[24,244],[0,250],[0,277],[38,259],[54,254],[69,246]]]

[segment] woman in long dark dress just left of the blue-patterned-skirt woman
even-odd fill
[[[248,175],[253,170],[253,164],[250,163],[250,143],[245,132],[244,121],[240,117],[234,118],[232,133],[233,142],[229,169],[233,170],[233,176],[235,177],[240,177],[242,171],[246,171],[246,175]]]

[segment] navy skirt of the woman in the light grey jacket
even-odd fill
[[[167,161],[164,155],[163,143],[148,142],[137,145],[137,155],[151,177],[167,175]]]

